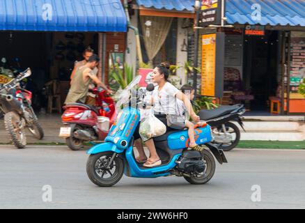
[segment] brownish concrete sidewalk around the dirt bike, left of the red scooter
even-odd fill
[[[29,144],[31,143],[65,143],[65,139],[58,137],[59,129],[62,126],[61,114],[40,114],[38,116],[39,122],[45,132],[45,137],[38,140],[33,137],[29,130],[26,130],[26,139]],[[10,139],[8,133],[4,128],[3,118],[0,120],[0,143],[9,144]]]

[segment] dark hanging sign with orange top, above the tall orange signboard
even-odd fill
[[[221,24],[221,1],[202,0],[198,26]]]

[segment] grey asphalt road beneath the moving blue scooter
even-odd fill
[[[123,176],[102,188],[86,175],[85,151],[0,146],[0,208],[305,208],[305,151],[235,149],[226,156],[206,185]],[[44,185],[52,202],[42,200]],[[260,201],[251,200],[259,192],[253,185]]]

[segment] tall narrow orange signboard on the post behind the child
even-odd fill
[[[201,95],[215,96],[216,33],[202,36]]]

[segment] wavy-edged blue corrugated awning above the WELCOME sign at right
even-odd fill
[[[260,18],[254,12],[259,8]],[[228,24],[305,26],[305,1],[226,0],[226,18]]]

